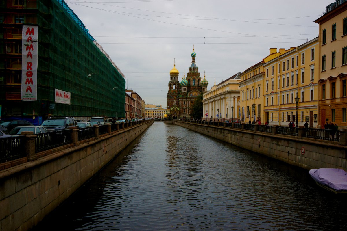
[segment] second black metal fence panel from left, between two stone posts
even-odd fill
[[[36,134],[35,153],[72,143],[72,129]]]

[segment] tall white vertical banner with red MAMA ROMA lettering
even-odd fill
[[[38,26],[23,25],[22,32],[22,92],[23,101],[37,100],[37,38]]]

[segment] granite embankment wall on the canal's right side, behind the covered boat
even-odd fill
[[[174,120],[173,123],[304,169],[341,168],[347,170],[345,143],[297,139],[284,135],[271,135],[179,120]]]

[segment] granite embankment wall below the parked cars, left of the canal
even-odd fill
[[[37,153],[37,160],[0,171],[0,231],[32,228],[151,124]]]

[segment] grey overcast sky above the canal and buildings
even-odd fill
[[[126,88],[166,107],[170,70],[191,65],[216,83],[269,54],[318,36],[333,0],[65,0],[126,77]]]

